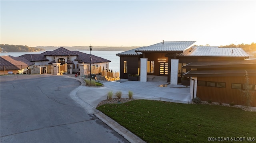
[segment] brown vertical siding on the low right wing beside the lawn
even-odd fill
[[[250,84],[256,84],[256,76],[249,76]],[[235,76],[235,77],[198,77],[198,80],[203,81],[213,81],[213,82],[226,82],[226,88],[218,87],[207,87],[207,86],[197,86],[197,96],[201,98],[202,101],[211,100],[212,102],[222,102],[222,103],[234,103],[238,105],[244,105],[244,101],[241,96],[241,91],[238,89],[232,89],[232,83],[245,83],[245,77]],[[253,100],[251,106],[256,107],[256,92],[252,91]]]

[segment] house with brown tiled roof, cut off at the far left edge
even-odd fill
[[[24,57],[1,56],[1,74],[29,74],[29,69],[34,67],[34,63]]]

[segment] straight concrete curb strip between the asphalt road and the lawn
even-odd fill
[[[110,117],[106,116],[104,113],[98,112],[94,115],[101,121],[106,123],[109,127],[114,129],[114,131],[116,131],[118,134],[122,135],[130,143],[146,143],[145,141],[134,135],[132,132],[130,132],[128,129],[126,129]]]

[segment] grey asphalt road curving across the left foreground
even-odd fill
[[[1,76],[1,143],[127,143],[70,98],[80,84],[48,74]]]

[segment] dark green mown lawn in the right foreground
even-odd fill
[[[234,137],[245,137],[240,142],[256,139],[256,112],[240,108],[134,100],[97,109],[147,143],[205,143],[209,137],[216,137],[214,142],[224,139],[220,137],[227,142],[234,142]]]

